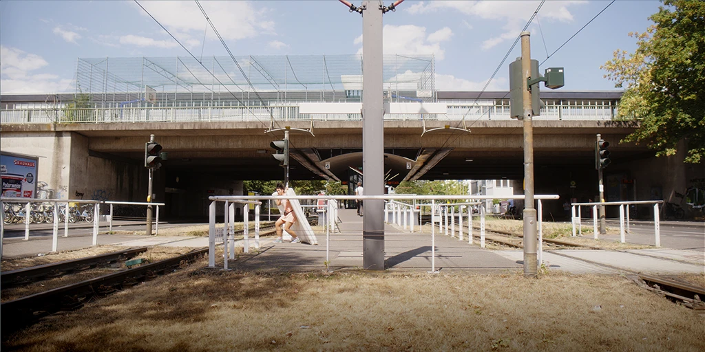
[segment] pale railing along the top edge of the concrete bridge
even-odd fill
[[[613,120],[615,106],[546,105],[538,120]],[[386,114],[385,120],[510,120],[508,105],[448,103],[446,114]],[[360,113],[303,114],[296,103],[279,106],[172,106],[23,108],[0,110],[0,123],[128,123],[214,121],[362,120]]]

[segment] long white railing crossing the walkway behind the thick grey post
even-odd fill
[[[379,195],[379,196],[329,196],[329,195],[321,195],[321,196],[289,196],[289,195],[283,195],[283,196],[210,196],[208,199],[210,199],[212,202],[209,206],[209,256],[208,256],[208,266],[209,268],[215,268],[215,245],[216,245],[216,203],[219,201],[222,202],[232,202],[232,203],[262,203],[262,201],[266,200],[272,200],[272,199],[297,199],[297,200],[324,200],[324,201],[329,201],[328,206],[326,207],[326,212],[331,213],[332,210],[330,210],[331,204],[333,204],[333,200],[335,201],[345,201],[345,200],[362,200],[362,201],[369,201],[369,200],[380,200],[380,201],[388,201],[388,203],[391,203],[392,201],[397,201],[396,203],[399,203],[399,200],[426,200],[426,201],[431,201],[431,208],[435,209],[436,208],[436,200],[443,200],[443,201],[450,201],[450,200],[467,200],[467,199],[495,199],[496,197],[494,196],[467,196],[467,195],[457,195],[457,196],[418,196],[418,195],[403,195],[403,194],[385,194],[385,195]],[[503,197],[503,199],[524,199],[523,195],[515,195],[515,196],[510,196],[510,197]],[[534,199],[536,199],[539,202],[539,247],[538,247],[538,253],[537,253],[537,261],[538,265],[540,268],[541,265],[541,199],[558,199],[557,195],[551,194],[551,195],[535,195]],[[245,206],[245,219],[247,219],[247,206]],[[259,207],[255,207],[256,213],[255,213],[255,221],[259,222]],[[480,229],[481,232],[484,233],[484,208],[481,208],[481,222],[480,222]],[[432,223],[435,222],[434,216],[435,216],[435,211],[432,211],[431,214],[431,221]],[[234,215],[234,208],[231,210],[231,214]],[[384,215],[383,215],[384,216]],[[332,218],[332,217],[329,217]],[[387,215],[388,219],[388,215]],[[226,220],[227,223],[227,220]],[[470,222],[472,226],[472,222]],[[226,228],[223,229],[223,233],[228,233],[228,228],[229,225],[225,225]],[[247,225],[245,225],[247,226]],[[329,251],[330,251],[330,226],[326,226],[326,268],[328,263],[330,263],[330,256],[329,256]],[[436,271],[436,232],[435,232],[435,226],[431,227],[433,230],[431,230],[431,272],[437,272]],[[245,239],[247,238],[245,232]],[[257,234],[259,236],[259,233]],[[471,239],[472,239],[472,234],[471,234]],[[228,268],[228,258],[234,259],[234,250],[235,250],[235,245],[234,245],[234,237],[231,240],[228,237],[227,241],[224,241],[225,243],[223,246],[226,248],[226,250],[223,251],[223,268],[227,270]],[[231,245],[231,255],[228,257],[228,243]],[[244,244],[245,249],[249,249],[249,244],[245,243]]]

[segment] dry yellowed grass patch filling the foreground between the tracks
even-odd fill
[[[180,270],[4,336],[23,351],[704,351],[624,277]]]

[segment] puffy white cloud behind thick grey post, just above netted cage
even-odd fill
[[[445,27],[427,36],[426,27],[416,25],[384,25],[382,30],[384,54],[430,55],[443,60],[446,51],[439,42],[450,39],[453,31]],[[362,35],[355,38],[354,44],[362,44]],[[357,50],[362,54],[362,48]]]

